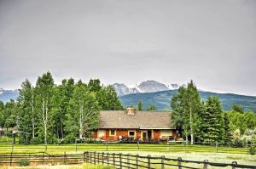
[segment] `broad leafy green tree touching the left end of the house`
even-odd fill
[[[69,137],[82,139],[98,126],[99,106],[86,85],[78,83],[69,101],[66,130]]]

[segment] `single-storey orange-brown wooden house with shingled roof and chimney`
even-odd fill
[[[92,138],[117,141],[124,138],[134,140],[177,140],[178,131],[171,127],[169,112],[104,110],[100,124]]]

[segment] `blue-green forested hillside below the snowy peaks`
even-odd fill
[[[157,110],[168,109],[171,110],[170,100],[177,90],[168,90],[156,93],[132,93],[124,96],[120,96],[122,104],[125,106],[134,105],[141,100],[143,102],[143,109],[147,109],[149,104],[154,104]],[[221,100],[224,110],[231,110],[232,104],[241,104],[244,110],[253,110],[256,112],[256,97],[243,96],[230,93],[211,93],[211,92],[199,92],[201,98],[206,100],[210,95],[217,95]]]

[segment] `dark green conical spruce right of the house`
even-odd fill
[[[223,134],[222,106],[217,96],[209,96],[202,113],[203,142],[208,144],[220,143]]]

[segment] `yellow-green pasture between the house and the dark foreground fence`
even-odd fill
[[[15,144],[13,153],[40,154],[45,150],[44,144]],[[9,154],[11,151],[12,144],[0,144],[0,154]],[[47,146],[47,153],[51,155],[64,154],[65,152],[67,154],[75,154],[84,151],[106,152],[107,146],[106,144],[77,144],[77,150],[75,144],[51,144]],[[237,161],[238,164],[256,166],[256,155],[248,155],[247,148],[218,147],[217,153],[216,147],[206,145],[189,145],[187,147],[183,144],[139,144],[138,150],[137,144],[108,144],[108,151],[122,154],[130,153],[131,155],[165,155],[167,158],[182,157],[183,160],[190,161],[208,160],[220,163]]]

